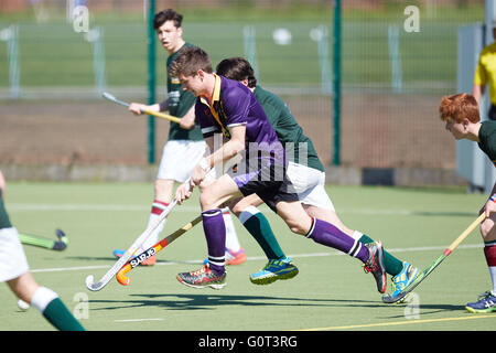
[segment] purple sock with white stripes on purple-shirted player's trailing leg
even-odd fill
[[[315,243],[348,254],[349,256],[362,260],[364,264],[369,256],[367,247],[359,240],[343,233],[331,223],[317,218],[312,217],[312,226],[306,237],[312,238]]]

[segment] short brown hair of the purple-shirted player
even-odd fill
[[[212,74],[212,62],[208,54],[198,46],[187,46],[179,52],[179,56],[169,66],[171,77],[195,76],[198,69]]]

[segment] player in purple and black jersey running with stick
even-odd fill
[[[237,169],[230,169],[202,190],[200,203],[208,264],[200,270],[179,274],[179,281],[197,288],[220,289],[226,285],[226,229],[219,207],[235,197],[256,193],[293,233],[359,259],[374,275],[379,291],[385,292],[381,243],[364,245],[355,242],[332,224],[305,213],[285,178],[285,151],[251,90],[237,81],[215,75],[208,55],[200,47],[185,49],[170,67],[170,73],[180,78],[183,89],[197,97],[195,114],[207,143],[213,145],[215,132],[222,132],[228,139],[200,161],[190,183],[177,188],[177,202],[190,197],[190,186],[198,185],[214,165],[242,156]]]

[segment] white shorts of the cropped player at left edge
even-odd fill
[[[18,229],[0,229],[0,282],[18,278],[29,269]]]

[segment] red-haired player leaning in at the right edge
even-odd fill
[[[439,106],[441,120],[456,140],[467,139],[477,142],[493,164],[496,163],[496,121],[481,122],[477,100],[468,94],[444,96]],[[495,164],[496,165],[496,164]],[[466,304],[470,312],[496,311],[496,184],[479,214],[485,212],[486,218],[481,223],[481,235],[484,240],[484,256],[489,268],[493,288],[479,296],[478,301]]]

